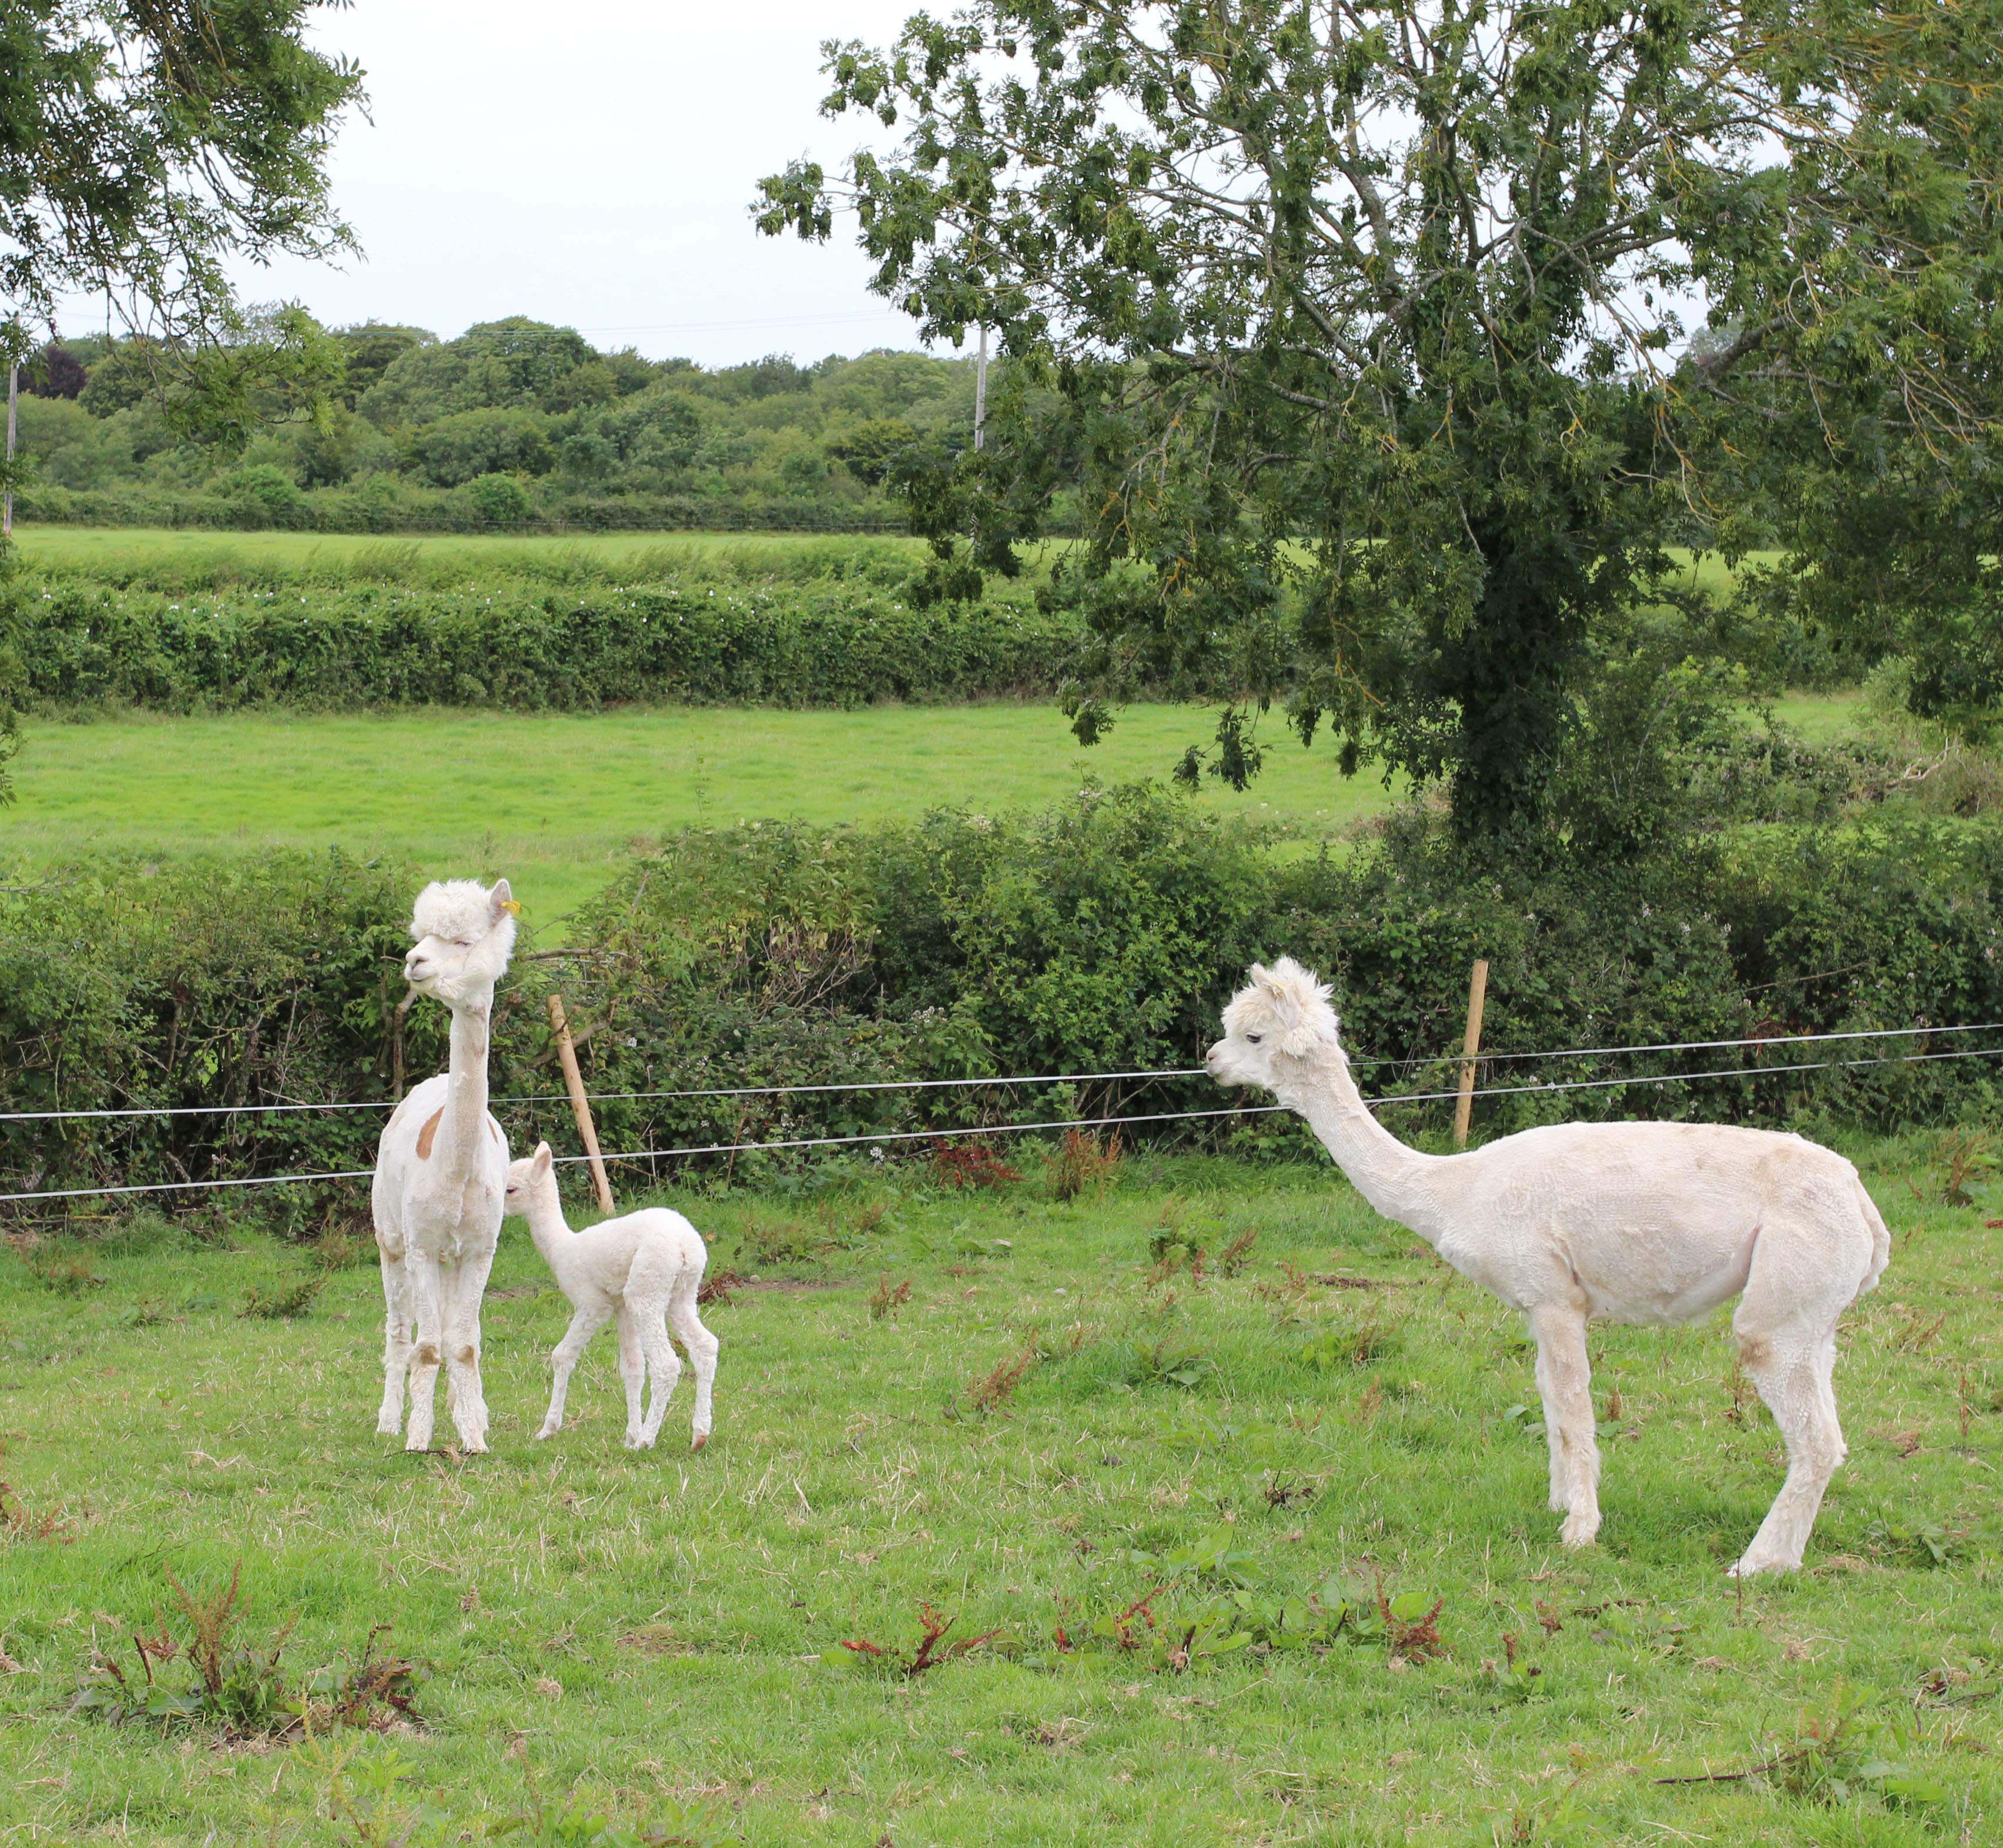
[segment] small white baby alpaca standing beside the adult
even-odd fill
[[[535,1436],[553,1438],[563,1430],[571,1371],[591,1337],[617,1317],[619,1377],[627,1390],[627,1450],[653,1450],[669,1396],[681,1379],[669,1329],[689,1349],[689,1365],[695,1367],[691,1450],[701,1450],[709,1442],[709,1390],[717,1377],[717,1337],[695,1313],[695,1293],[703,1285],[703,1265],[709,1263],[703,1235],[667,1207],[647,1207],[571,1231],[547,1141],[509,1167],[507,1209],[529,1221],[535,1249],[577,1311],[551,1353],[555,1379],[549,1414]],[[653,1381],[653,1396],[643,1420],[639,1400],[647,1379]]]

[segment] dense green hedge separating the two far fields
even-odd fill
[[[54,579],[20,599],[26,697],[160,711],[627,701],[857,707],[1050,693],[1064,617],[913,611],[865,585],[661,581],[571,595],[361,585],[178,595]]]

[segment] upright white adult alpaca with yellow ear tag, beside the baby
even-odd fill
[[[377,1430],[403,1426],[405,1450],[431,1450],[433,1388],[445,1359],[445,1404],[465,1450],[487,1448],[481,1396],[481,1295],[501,1237],[507,1137],[487,1113],[487,1029],[495,983],[515,949],[505,879],[427,885],[411,913],[409,983],[453,1013],[451,1067],[427,1077],[383,1125],[371,1205],[383,1257],[387,1331]],[[413,1343],[415,1331],[415,1343]]]

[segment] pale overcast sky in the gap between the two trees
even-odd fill
[[[335,204],[363,256],[244,266],[246,300],[453,336],[533,314],[707,366],[915,346],[863,286],[853,224],[759,236],[757,180],[829,166],[869,124],[815,104],[823,38],[887,42],[919,0],[355,0],[324,44],[369,72]],[[947,10],[935,6],[935,10]]]

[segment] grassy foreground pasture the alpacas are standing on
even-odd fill
[[[1562,1554],[1516,1317],[1322,1167],[1148,1157],[1060,1205],[1018,1151],[1030,1179],[999,1195],[913,1173],[683,1197],[759,1279],[709,1311],[699,1456],[687,1379],[661,1448],[621,1448],[609,1335],[573,1424],[529,1442],[567,1307],[519,1223],[485,1319],[495,1448],[471,1460],[375,1436],[373,1267],[286,1323],[236,1309],[308,1255],[208,1219],[10,1255],[0,1828],[363,1840],[326,1808],[353,1754],[351,1792],[401,1762],[391,1810],[451,1818],[385,1842],[479,1840],[529,1774],[629,1824],[707,1800],[693,1838],[747,1844],[1997,1840],[2003,1249],[1983,1209],[1921,1205],[1923,1151],[1865,1153],[1897,1249],[1845,1319],[1851,1460],[1809,1570],[1745,1588],[1723,1568],[1781,1454],[1723,1319],[1596,1331],[1606,1526]],[[1170,1239],[1208,1275],[1156,1265]],[[879,1281],[911,1289],[873,1317]],[[1004,1363],[983,1412],[969,1388]],[[1224,1574],[1176,1560],[1206,1536]],[[250,1752],[66,1712],[92,1644],[170,1608],[168,1572],[210,1588],[238,1562],[244,1642],[296,1618],[306,1670],[393,1624],[433,1668],[425,1726]],[[1340,1634],[1178,1662],[1234,1584],[1330,1580],[1442,1600],[1444,1654]],[[903,1676],[923,1606],[993,1636]],[[1094,1634],[1122,1612],[1130,1650]],[[1739,1778],[1859,1702],[1889,1728],[1869,1752],[1791,1760],[1847,1782]],[[1887,1802],[1871,1756],[1945,1802]]]

